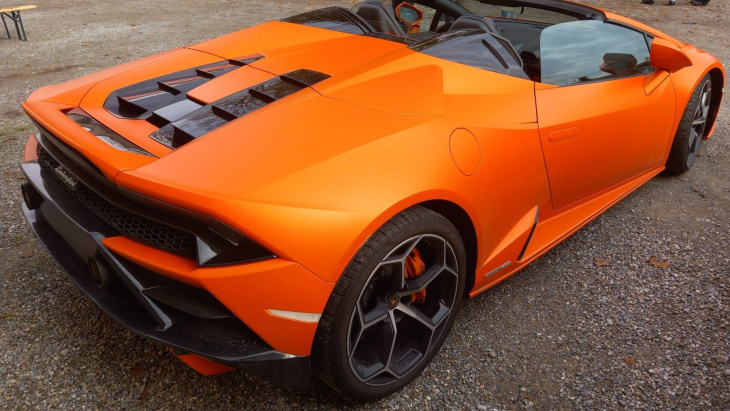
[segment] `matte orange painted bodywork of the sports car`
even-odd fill
[[[358,249],[400,211],[439,200],[466,212],[476,295],[661,172],[692,91],[710,70],[724,79],[724,69],[708,53],[607,16],[678,47],[692,66],[560,88],[396,42],[271,22],[40,89],[23,108],[120,187],[208,215],[274,252],[201,268],[127,238],[104,240],[208,290],[274,349],[308,355],[317,324],[267,310],[321,313]],[[174,151],[149,138],[154,126],[102,107],[129,84],[256,53],[265,58],[190,95],[211,102],[302,68],[331,77]],[[65,116],[76,106],[159,158],[103,143]],[[455,133],[462,129],[472,137]],[[35,159],[34,144],[25,161]]]

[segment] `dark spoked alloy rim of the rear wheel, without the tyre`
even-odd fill
[[[413,249],[431,261],[423,274],[406,278]],[[370,274],[350,318],[348,361],[358,379],[382,386],[413,370],[439,340],[458,283],[456,254],[439,236],[413,237],[391,251]],[[422,290],[424,300],[415,300]]]

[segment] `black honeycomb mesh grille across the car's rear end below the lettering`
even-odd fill
[[[68,180],[64,181],[57,172],[62,165],[40,145],[38,145],[38,162],[66,191],[120,234],[183,257],[191,259],[196,257],[196,239],[193,234],[118,207],[81,181],[71,187]]]

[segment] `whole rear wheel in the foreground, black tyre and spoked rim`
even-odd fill
[[[423,273],[406,278],[406,266],[414,266],[417,254]],[[390,219],[360,248],[335,285],[314,337],[315,374],[361,400],[410,383],[453,326],[465,271],[464,245],[445,217],[416,206]],[[425,290],[423,300],[420,289]]]

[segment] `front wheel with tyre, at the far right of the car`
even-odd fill
[[[692,93],[674,135],[666,166],[670,173],[682,174],[694,164],[708,126],[711,97],[712,81],[707,74]]]

